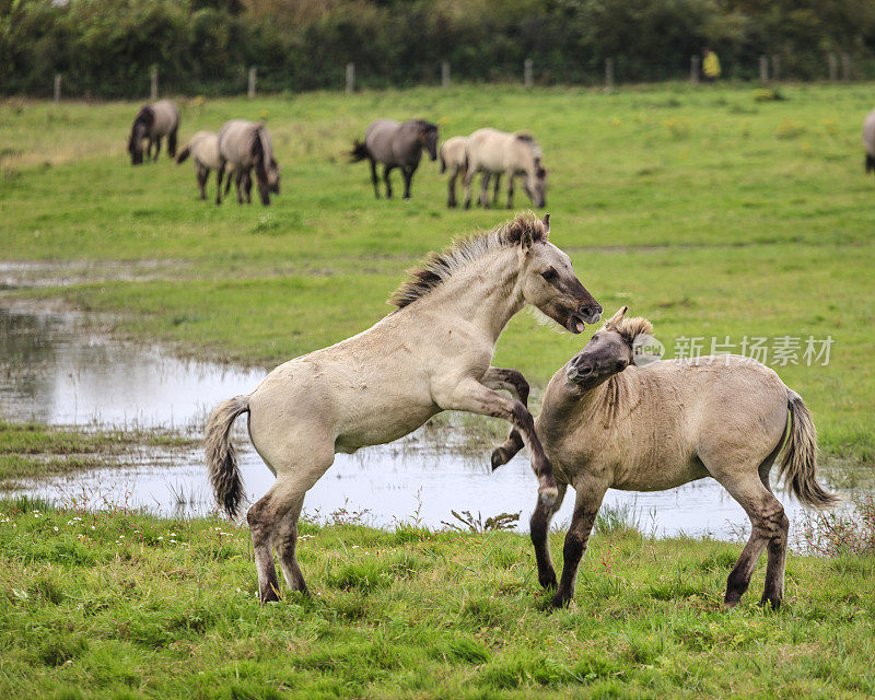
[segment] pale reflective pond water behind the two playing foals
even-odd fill
[[[71,314],[20,314],[0,310],[0,417],[52,424],[168,427],[200,430],[220,400],[252,392],[261,370],[186,362],[155,348],[141,349],[83,330]],[[236,444],[249,500],[260,497],[273,476],[248,447],[243,420]],[[528,528],[537,481],[524,455],[494,474],[489,455],[459,456],[439,450],[422,433],[354,455],[337,455],[334,466],[307,493],[305,511],[327,517],[346,509],[363,520],[392,526],[418,516],[441,527],[451,510],[483,516],[522,511]],[[24,492],[80,505],[107,503],[145,508],[167,515],[213,510],[206,467],[198,451],[171,458],[147,458],[136,467],[78,472],[45,479]],[[803,511],[782,498],[791,520]],[[607,506],[632,504],[645,532],[731,537],[747,527],[747,516],[712,479],[669,491],[609,491]],[[556,517],[567,524],[573,492]]]

